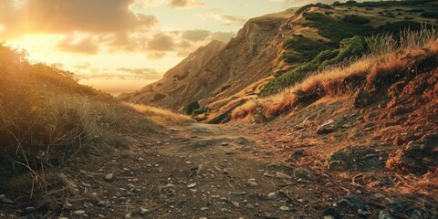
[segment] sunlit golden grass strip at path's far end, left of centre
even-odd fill
[[[164,110],[158,107],[146,106],[142,104],[135,104],[124,102],[124,106],[131,110],[134,110],[142,115],[145,115],[148,119],[154,123],[166,126],[166,125],[183,125],[189,122],[193,122],[189,116],[172,112],[171,110]]]

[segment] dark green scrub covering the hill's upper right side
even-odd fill
[[[335,3],[328,5],[305,5],[297,10],[297,15],[302,15],[304,19],[295,22],[296,26],[308,26],[318,30],[318,35],[327,38],[329,41],[313,39],[305,36],[291,36],[283,45],[285,53],[283,60],[290,65],[287,70],[280,70],[276,73],[276,78],[270,81],[261,90],[261,96],[275,94],[282,89],[293,86],[314,71],[321,70],[329,65],[337,65],[345,60],[360,57],[361,54],[369,51],[369,47],[364,44],[363,36],[377,36],[390,34],[395,37],[400,36],[404,29],[420,30],[423,26],[432,28],[433,25],[422,24],[412,20],[396,20],[385,24],[370,26],[369,23],[374,19],[372,16],[364,17],[357,15],[346,15],[342,18],[331,16],[333,8],[336,6],[360,6],[373,9],[382,6],[421,6],[433,1],[401,1],[401,2],[367,2],[349,4]],[[318,12],[308,12],[309,8],[318,7],[326,10],[324,14]],[[431,10],[431,9],[428,9]],[[399,10],[401,11],[401,10]],[[424,14],[424,10],[415,13]],[[426,16],[433,17],[435,11],[427,11]],[[417,16],[420,16],[417,15]],[[359,37],[362,38],[359,43]],[[354,45],[347,45],[356,41]],[[364,46],[364,47],[363,47]],[[346,47],[350,47],[346,49]],[[354,48],[353,48],[354,47]],[[344,50],[342,52],[342,50]]]

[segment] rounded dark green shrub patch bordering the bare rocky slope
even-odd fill
[[[330,48],[328,43],[304,36],[293,36],[283,43],[287,53],[283,58],[288,63],[307,62],[316,57],[318,53]]]

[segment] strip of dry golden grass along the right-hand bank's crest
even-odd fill
[[[416,42],[416,39],[422,43]],[[260,108],[263,108],[263,115],[269,119],[297,108],[302,104],[299,101],[307,101],[308,97],[318,99],[351,95],[354,87],[358,86],[354,83],[365,83],[367,89],[373,89],[379,81],[394,77],[401,70],[408,68],[412,60],[438,54],[438,35],[435,31],[422,31],[417,34],[406,32],[401,38],[400,47],[392,46],[394,42],[391,42],[392,39],[388,36],[376,40],[387,45],[384,52],[379,50],[370,56],[316,72],[278,94],[249,100],[232,112],[232,119],[254,117],[255,113],[260,114],[257,110]]]

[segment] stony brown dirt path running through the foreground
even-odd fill
[[[259,159],[269,151],[238,131],[193,123],[130,141],[130,151],[116,152],[110,162],[82,172],[78,191],[95,202],[74,204],[62,216],[317,218],[324,209],[318,184]]]

